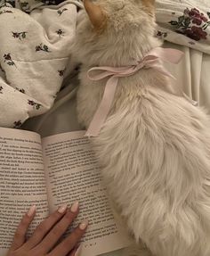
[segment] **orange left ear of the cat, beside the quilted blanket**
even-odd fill
[[[93,4],[90,0],[84,0],[85,10],[95,29],[102,29],[106,23],[106,15],[100,5]]]

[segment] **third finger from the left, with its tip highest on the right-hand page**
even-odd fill
[[[38,244],[38,252],[44,254],[49,252],[52,247],[58,242],[61,235],[65,233],[73,220],[78,214],[78,202],[75,202],[70,211],[67,211],[65,216],[52,228],[48,235],[44,237],[44,240]],[[60,254],[58,254],[60,255]]]

